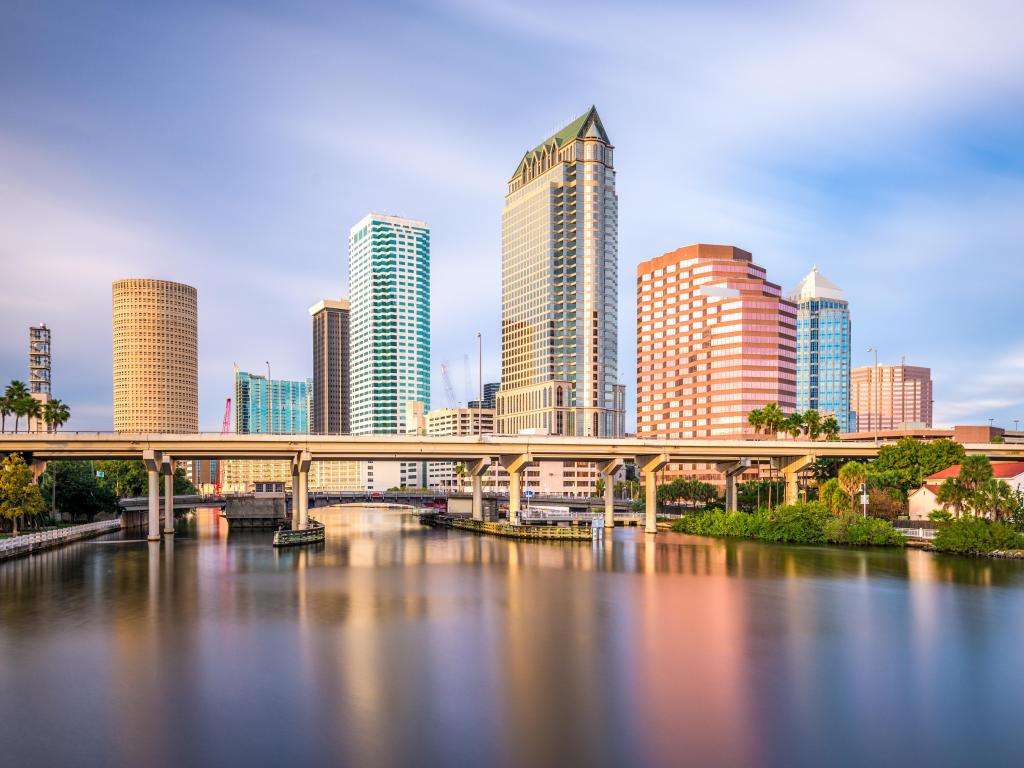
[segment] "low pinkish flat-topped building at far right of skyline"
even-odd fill
[[[932,426],[932,370],[920,366],[862,366],[850,373],[855,431]]]

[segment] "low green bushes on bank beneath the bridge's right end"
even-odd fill
[[[855,513],[834,515],[816,502],[786,504],[756,512],[712,510],[683,515],[672,529],[695,536],[738,537],[784,544],[845,544],[855,547],[902,547],[892,524]]]

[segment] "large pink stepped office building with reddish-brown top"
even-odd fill
[[[637,436],[753,434],[796,408],[797,310],[751,254],[693,245],[637,267]]]

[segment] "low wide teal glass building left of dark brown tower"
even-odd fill
[[[312,380],[270,379],[234,369],[234,431],[239,434],[305,434],[309,431]]]

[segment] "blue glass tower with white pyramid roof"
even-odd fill
[[[797,410],[831,414],[849,432],[850,305],[816,266],[788,298],[797,305]]]

